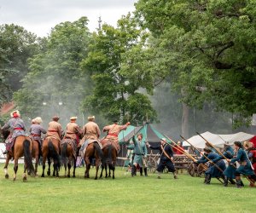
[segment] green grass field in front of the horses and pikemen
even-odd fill
[[[117,168],[116,179],[84,179],[84,168],[76,178],[30,177],[22,181],[19,166],[17,180],[0,176],[0,212],[255,212],[256,188],[223,187],[216,179],[209,186],[203,178],[183,174],[174,180],[170,174],[135,176]],[[39,167],[41,174],[42,167]],[[138,175],[138,174],[137,174]]]

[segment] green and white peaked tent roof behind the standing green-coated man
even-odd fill
[[[135,129],[131,130],[131,132],[128,133],[127,135],[125,135],[124,133],[125,136],[122,135],[122,132],[123,131],[119,133],[119,142],[128,142],[131,140],[133,135],[137,135],[138,133],[142,133],[143,138],[145,139],[145,141],[148,142],[160,142],[160,139],[165,137],[158,130],[155,130],[151,124],[148,123],[144,124],[143,126],[135,127]],[[166,141],[171,143],[171,141],[169,141],[167,138]]]

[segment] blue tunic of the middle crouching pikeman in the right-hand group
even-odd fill
[[[232,159],[234,157],[234,149],[232,147],[227,147],[226,150],[224,151],[223,155],[224,157],[228,159]],[[218,155],[218,158],[213,159],[213,163],[218,162],[218,160],[223,159],[221,155]],[[226,176],[229,179],[234,179],[236,178],[236,166],[233,164],[229,164],[228,167],[224,170],[223,172],[224,176]]]

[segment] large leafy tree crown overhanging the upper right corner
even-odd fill
[[[137,16],[158,41],[173,88],[183,102],[235,114],[256,112],[256,2],[139,0]]]

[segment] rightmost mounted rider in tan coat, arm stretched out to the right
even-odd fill
[[[130,125],[130,122],[127,122],[125,125],[119,125],[118,120],[114,119],[113,124],[105,126],[103,128],[103,132],[108,132],[108,135],[106,135],[102,139],[102,146],[108,147],[109,144],[112,144],[112,146],[115,148],[116,152],[119,152],[119,132],[121,130],[126,130],[127,126]]]

